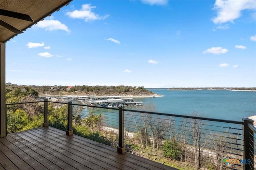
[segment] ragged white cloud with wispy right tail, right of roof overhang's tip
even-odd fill
[[[68,15],[71,18],[79,18],[84,19],[84,21],[94,21],[94,20],[104,20],[109,15],[105,16],[99,16],[98,14],[95,14],[92,12],[92,9],[96,8],[96,6],[91,6],[91,4],[84,4],[82,5],[81,10],[74,10],[72,12],[67,12],[66,15]]]

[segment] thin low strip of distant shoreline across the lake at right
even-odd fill
[[[168,90],[256,90],[256,87],[188,87],[169,88]]]

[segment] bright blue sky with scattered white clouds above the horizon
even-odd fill
[[[256,0],[73,0],[6,43],[6,82],[256,87]]]

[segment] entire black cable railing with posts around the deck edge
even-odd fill
[[[47,99],[6,104],[7,119],[12,115],[10,110],[28,104],[37,108],[37,114],[40,111],[40,125],[44,127],[56,125],[51,115],[53,107],[64,105],[57,112],[63,112],[65,121],[57,124],[66,130],[66,135],[74,133],[116,147],[120,154],[131,152],[184,170],[256,167],[256,128],[251,119],[230,121],[201,117],[197,113],[175,115]],[[12,126],[14,123],[9,125]]]

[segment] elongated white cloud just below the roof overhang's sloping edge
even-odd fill
[[[38,22],[35,26],[44,28],[46,31],[54,31],[54,30],[60,29],[66,32],[70,32],[68,27],[64,23],[61,23],[58,20],[43,20]]]

